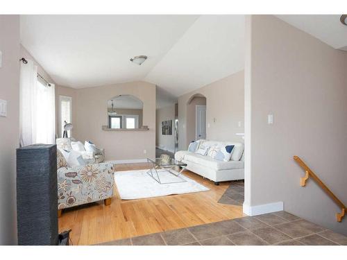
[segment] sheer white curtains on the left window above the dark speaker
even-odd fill
[[[55,143],[54,85],[37,81],[37,66],[32,60],[21,62],[20,144]]]

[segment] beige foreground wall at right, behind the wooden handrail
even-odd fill
[[[293,160],[302,157],[347,203],[347,52],[273,16],[251,16],[247,23],[247,201],[282,201],[286,211],[347,235],[347,221],[337,223],[340,209],[322,189],[312,180],[300,187],[304,172]]]

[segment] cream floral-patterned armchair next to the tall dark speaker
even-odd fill
[[[57,152],[58,216],[62,209],[104,200],[111,204],[115,185],[115,165],[109,162],[67,166],[60,151]]]

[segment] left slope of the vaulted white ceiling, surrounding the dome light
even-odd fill
[[[22,15],[22,45],[58,85],[143,80],[197,15]],[[147,55],[141,66],[130,62]]]

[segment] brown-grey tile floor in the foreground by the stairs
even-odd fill
[[[278,211],[101,245],[347,245],[347,237]]]

